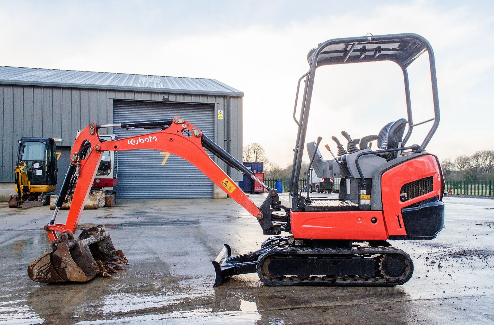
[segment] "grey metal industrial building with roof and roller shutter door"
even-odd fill
[[[58,187],[77,131],[98,124],[180,116],[242,159],[243,92],[214,79],[0,66],[0,195],[14,192],[13,168],[23,136],[57,141]],[[222,119],[218,119],[221,111]],[[107,129],[119,137],[147,133]],[[148,131],[149,132],[149,131]],[[154,150],[119,153],[118,198],[226,197],[196,167]],[[233,180],[242,175],[215,159]],[[58,188],[57,187],[57,188]]]

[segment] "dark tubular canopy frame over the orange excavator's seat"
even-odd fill
[[[422,53],[427,51],[429,57],[429,66],[431,74],[432,98],[434,104],[434,118],[427,121],[413,124],[412,120],[412,101],[410,95],[410,83],[407,68],[415,61]],[[425,136],[418,151],[424,151],[429,144],[432,136],[436,132],[439,121],[439,95],[437,89],[436,63],[434,59],[434,51],[430,43],[417,34],[391,34],[380,36],[365,36],[343,39],[332,39],[325,41],[317,48],[309,51],[307,56],[310,70],[304,74],[298,81],[297,94],[295,96],[295,108],[293,110],[293,119],[298,126],[297,138],[293,155],[293,168],[290,178],[290,195],[292,197],[291,208],[297,211],[300,204],[298,198],[298,179],[302,164],[303,148],[305,136],[307,132],[308,117],[312,100],[312,92],[314,89],[314,78],[318,67],[334,64],[347,64],[358,62],[373,62],[373,61],[393,61],[398,64],[403,71],[405,100],[407,105],[407,120],[408,130],[403,140],[403,146],[412,135],[414,126],[425,122],[433,122],[429,132]],[[300,82],[305,78],[305,87],[301,102],[300,118],[295,119],[296,105],[298,100],[298,92]]]

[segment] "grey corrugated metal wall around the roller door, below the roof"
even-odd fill
[[[62,138],[57,145],[72,145],[77,131],[90,122],[113,122],[115,99],[159,101],[164,95],[168,95],[170,101],[212,103],[215,110],[225,114],[227,107],[231,107],[230,116],[215,119],[215,142],[226,149],[226,142],[230,140],[232,156],[242,161],[242,97],[0,84],[0,181],[14,180],[14,155],[17,140],[22,136]],[[228,121],[231,139],[227,138]],[[223,162],[216,160],[216,163],[226,170]],[[234,180],[242,179],[240,172],[232,170],[231,173]]]

